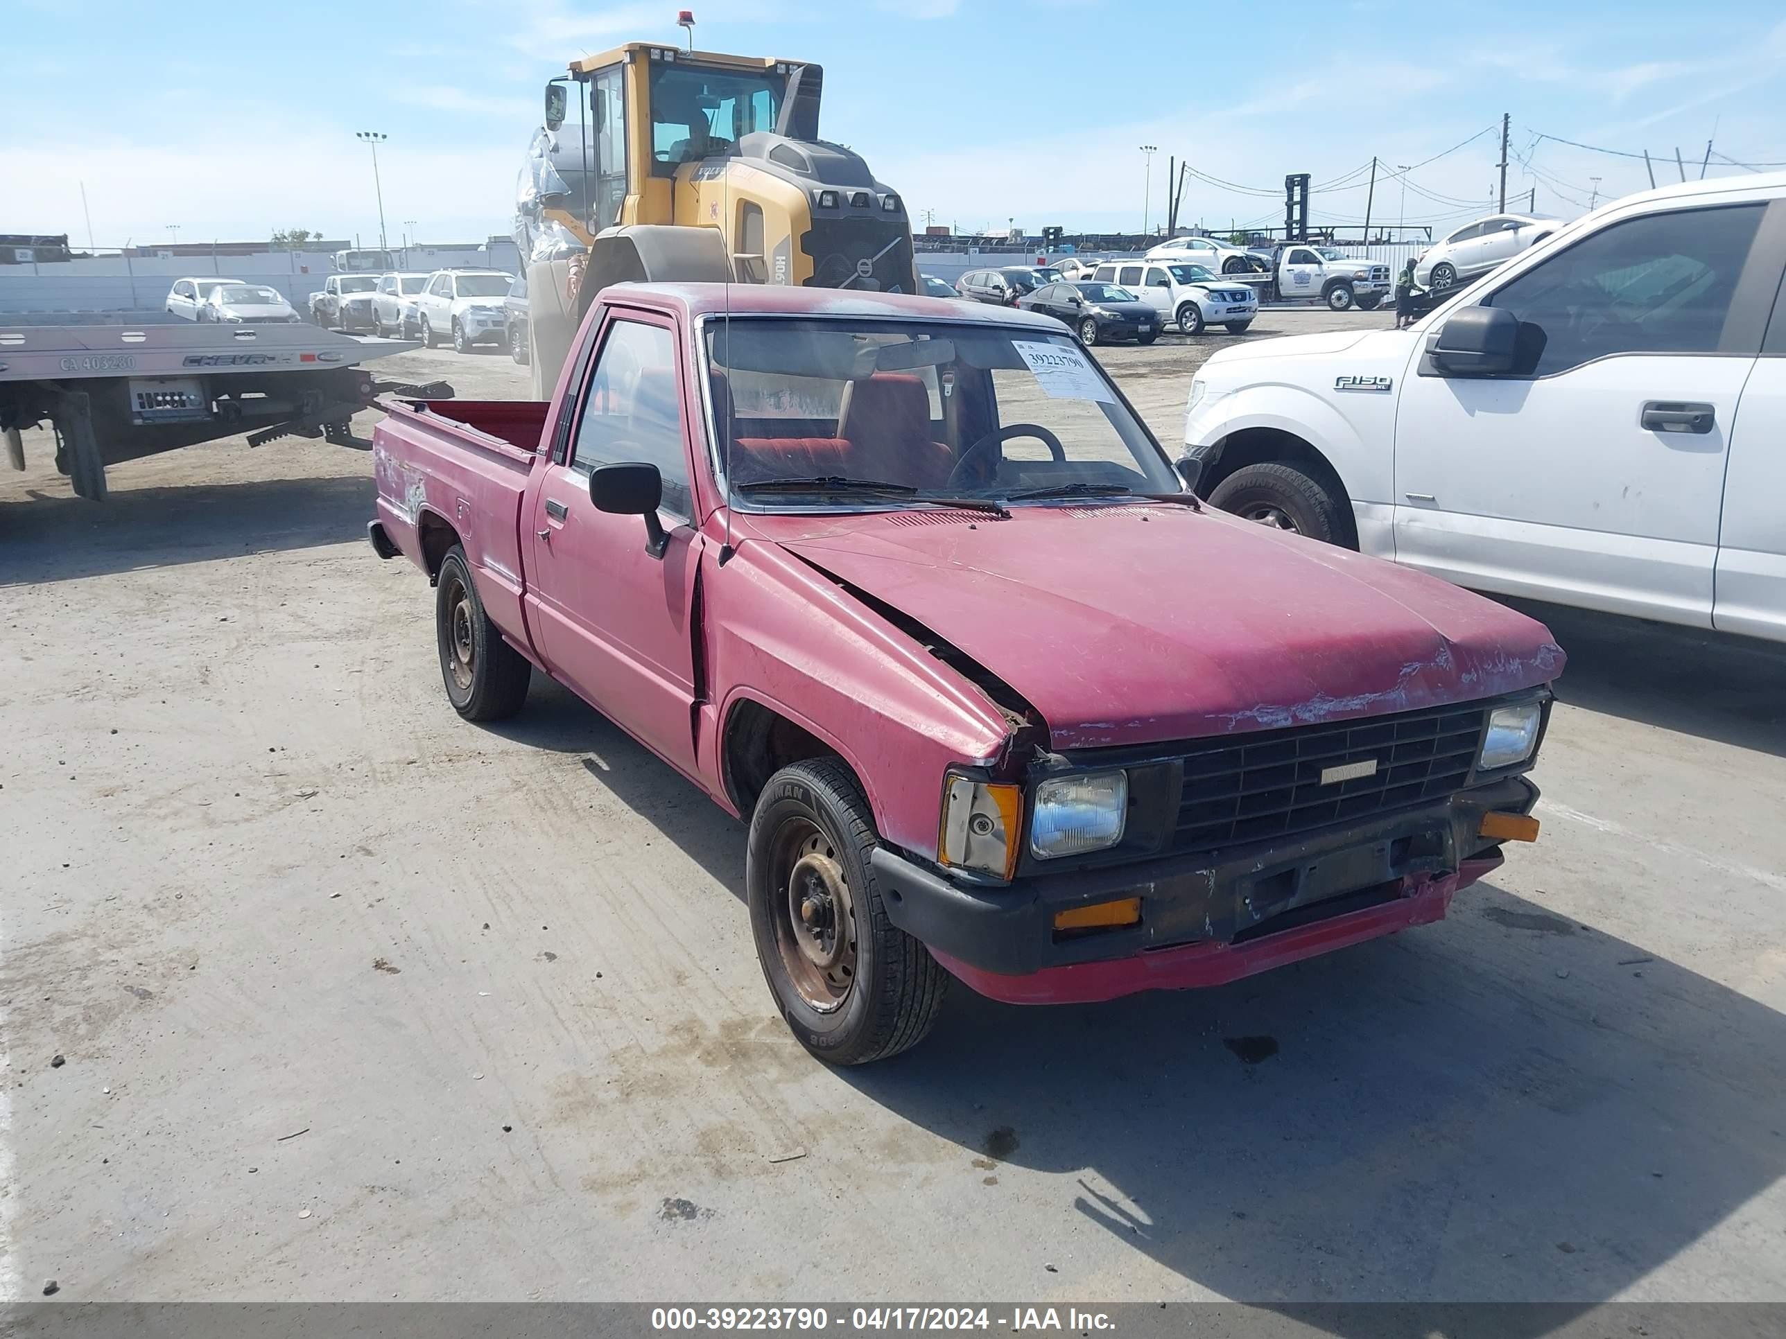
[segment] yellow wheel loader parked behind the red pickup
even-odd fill
[[[622,280],[922,293],[906,202],[818,137],[823,70],[627,43],[547,84],[523,173],[534,393]],[[529,186],[530,182],[530,186]]]

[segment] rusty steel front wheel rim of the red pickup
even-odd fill
[[[770,919],[788,982],[820,1014],[855,986],[855,902],[841,853],[809,818],[789,818],[770,855]]]

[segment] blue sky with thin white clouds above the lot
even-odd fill
[[[539,87],[584,52],[675,41],[675,4],[382,0],[311,5],[0,0],[0,232],[100,246],[263,237],[296,225],[391,241],[507,232]],[[963,230],[1139,229],[1152,168],[1202,173],[1184,216],[1281,221],[1288,171],[1314,221],[1365,214],[1443,232],[1490,204],[1500,112],[1513,196],[1572,216],[1597,193],[1786,164],[1786,12],[1777,0],[1618,5],[1188,5],[1154,0],[707,0],[697,46],[825,66],[823,132],[913,211]],[[1459,141],[1481,134],[1463,148]],[[1540,139],[1538,136],[1550,136]],[[1447,152],[1452,150],[1452,152]],[[1397,164],[1418,164],[1402,179]],[[1213,179],[1213,180],[1211,180]],[[1598,180],[1595,180],[1598,179]],[[1214,182],[1227,182],[1220,186]],[[414,220],[407,225],[407,220]],[[407,225],[407,227],[405,227]]]

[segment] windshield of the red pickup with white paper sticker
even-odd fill
[[[1061,486],[1181,491],[1164,453],[1066,334],[738,318],[707,323],[705,352],[730,487],[747,505],[897,505],[798,482],[825,477],[920,500],[1011,500]]]

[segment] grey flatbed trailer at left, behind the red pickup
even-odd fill
[[[54,321],[54,318],[46,318]],[[0,437],[25,468],[23,428],[48,423],[55,464],[82,498],[105,496],[105,466],[248,434],[350,437],[348,420],[393,391],[443,400],[441,384],[379,382],[361,362],[416,348],[313,325],[36,323],[0,318]]]

